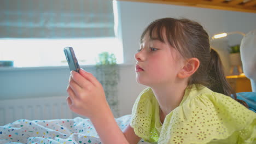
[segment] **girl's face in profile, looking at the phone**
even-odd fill
[[[158,87],[173,85],[177,81],[177,74],[183,67],[180,53],[167,43],[166,37],[162,42],[147,33],[136,53],[136,80],[142,85]]]

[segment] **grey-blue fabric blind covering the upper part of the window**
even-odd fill
[[[0,38],[114,37],[112,0],[1,0]]]

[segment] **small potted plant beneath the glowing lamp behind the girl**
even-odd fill
[[[242,61],[240,56],[240,45],[230,46],[229,61],[231,65],[230,74],[234,74],[234,68],[237,67],[238,74],[242,73]]]

